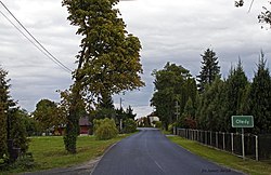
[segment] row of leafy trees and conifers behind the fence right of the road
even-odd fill
[[[255,127],[249,132],[271,133],[271,77],[264,54],[260,54],[251,82],[241,59],[228,78],[221,79],[216,53],[207,49],[202,57],[197,86],[182,66],[167,63],[164,69],[154,70],[151,103],[164,125],[234,132],[231,116],[254,116]]]

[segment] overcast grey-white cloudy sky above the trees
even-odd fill
[[[70,26],[61,0],[1,0],[28,31],[61,63],[74,70],[75,55],[80,48],[77,27]],[[241,57],[249,80],[257,70],[260,51],[271,62],[271,29],[258,23],[257,15],[267,0],[250,1],[235,8],[234,0],[134,0],[120,1],[127,30],[139,37],[145,86],[140,91],[115,95],[116,107],[133,108],[137,117],[153,111],[154,69],[167,62],[182,65],[193,77],[201,70],[201,54],[208,48],[218,56],[221,73],[227,78],[231,66]],[[17,23],[0,5],[0,11],[18,28]],[[21,28],[22,29],[22,28]],[[27,35],[27,33],[25,33]],[[12,98],[29,112],[43,98],[60,100],[56,90],[66,90],[72,76],[34,46],[0,14],[0,66],[9,71]]]

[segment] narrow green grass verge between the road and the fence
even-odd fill
[[[242,158],[235,157],[229,152],[206,147],[196,142],[179,136],[169,137],[169,139],[189,151],[220,165],[234,169],[249,175],[271,175],[271,161],[257,162],[249,159],[243,160]]]

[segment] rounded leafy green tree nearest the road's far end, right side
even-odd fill
[[[155,93],[151,99],[151,105],[155,106],[155,115],[159,117],[167,129],[168,124],[177,120],[176,102],[180,105],[179,112],[182,113],[189,98],[193,106],[196,99],[196,83],[190,71],[182,66],[167,63],[164,69],[154,70]]]

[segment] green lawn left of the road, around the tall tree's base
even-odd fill
[[[42,136],[31,137],[29,152],[33,153],[36,166],[29,171],[40,171],[53,167],[67,167],[85,163],[91,159],[100,157],[113,144],[129,135],[121,134],[109,140],[96,140],[93,136],[80,136],[77,140],[77,153],[69,154],[65,150],[63,137]],[[22,173],[20,169],[0,174]]]

